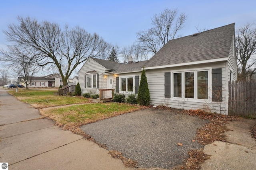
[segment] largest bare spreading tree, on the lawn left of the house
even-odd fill
[[[53,64],[58,68],[63,84],[76,67],[95,56],[101,38],[96,33],[88,33],[81,27],[61,27],[57,23],[39,23],[29,17],[18,17],[18,25],[8,25],[4,31],[7,40],[19,49],[27,49],[34,54],[33,61],[39,66]]]

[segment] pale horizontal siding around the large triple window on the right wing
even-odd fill
[[[204,67],[212,67],[213,68],[222,68],[222,94],[224,94],[225,90],[225,77],[226,77],[226,63],[215,63],[215,64],[200,64],[195,66],[186,66],[186,67],[174,67],[174,68],[160,68],[153,70],[146,70],[146,76],[148,80],[148,88],[150,91],[150,104],[154,106],[168,106],[178,109],[204,109],[206,111],[216,111],[217,113],[221,110],[222,114],[226,114],[226,95],[222,95],[223,101],[220,102],[205,102],[201,101],[188,101],[186,98],[176,100],[173,98],[173,94],[171,94],[171,98],[164,97],[164,73],[171,72],[172,70],[182,70],[182,69],[200,69]],[[209,73],[209,75],[211,72]],[[172,76],[172,75],[171,75]],[[172,80],[172,79],[171,79]],[[171,82],[172,86],[172,82]],[[210,88],[211,85],[209,85]],[[212,89],[212,88],[210,88]],[[226,89],[228,90],[228,89]],[[209,96],[210,97],[210,96]],[[221,109],[220,109],[221,108]]]

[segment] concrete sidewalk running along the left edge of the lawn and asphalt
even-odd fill
[[[63,131],[38,109],[0,90],[0,162],[9,169],[128,170],[108,150]]]

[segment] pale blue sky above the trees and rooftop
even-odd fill
[[[151,27],[151,18],[165,8],[178,8],[188,15],[183,36],[195,27],[213,29],[230,23],[236,27],[256,21],[255,0],[0,0],[0,47],[8,42],[2,30],[17,23],[17,16],[30,16],[64,26],[79,25],[120,47],[132,45],[136,32]]]

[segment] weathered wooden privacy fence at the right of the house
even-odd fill
[[[256,118],[256,82],[232,81],[228,91],[228,115]]]

